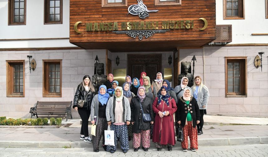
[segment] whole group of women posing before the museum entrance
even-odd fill
[[[150,138],[155,142],[158,151],[167,145],[169,151],[175,145],[175,130],[173,114],[175,113],[175,128],[181,127],[184,134],[183,151],[188,151],[188,136],[190,149],[198,149],[197,135],[203,134],[203,114],[206,114],[209,92],[202,84],[199,76],[194,78],[194,86],[188,87],[188,78],[182,78],[181,84],[175,89],[170,87],[168,80],[161,73],[156,74],[152,84],[145,72],[140,79],[130,76],[126,82],[118,86],[113,75],[108,74],[107,82],[99,87],[96,93],[89,75],[85,75],[77,87],[74,105],[78,111],[82,126],[80,139],[93,141],[93,151],[99,151],[99,142],[103,136],[102,147],[105,151],[114,153],[117,141],[123,153],[129,150],[129,140],[133,137],[134,151],[148,151]],[[78,107],[78,100],[85,100],[83,107]],[[88,120],[96,126],[96,135],[92,140],[88,133]],[[104,145],[104,130],[110,126],[114,131],[114,146]]]

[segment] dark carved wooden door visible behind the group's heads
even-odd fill
[[[146,72],[150,80],[156,79],[156,73],[161,72],[161,54],[127,55],[128,74],[131,78],[140,79],[141,72]]]

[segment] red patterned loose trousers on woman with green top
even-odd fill
[[[188,136],[190,139],[190,149],[195,148],[198,149],[198,141],[197,141],[197,127],[192,126],[192,121],[187,121],[187,125],[183,128],[183,141],[181,142],[181,148],[188,149]]]

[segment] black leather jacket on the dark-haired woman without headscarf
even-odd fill
[[[83,99],[85,100],[85,103],[84,103],[84,106],[83,108],[84,109],[88,109],[90,110],[90,107],[91,107],[91,100],[93,99],[93,97],[95,96],[95,92],[91,92],[89,90],[89,93],[88,93],[88,96],[86,99],[84,99],[84,97],[87,95],[87,92],[85,90],[82,91],[82,85],[79,84],[77,89],[76,89],[76,92],[75,92],[75,95],[74,95],[74,105],[73,105],[73,108],[74,107],[77,107],[77,102],[79,99]]]

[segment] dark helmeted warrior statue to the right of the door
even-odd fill
[[[180,74],[178,75],[178,85],[180,85],[181,79],[183,77],[188,78],[188,87],[192,87],[194,85],[194,78],[191,70],[191,62],[181,62]]]

